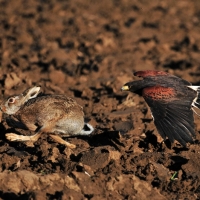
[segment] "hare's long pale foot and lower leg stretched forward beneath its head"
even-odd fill
[[[7,133],[6,134],[6,139],[9,141],[21,141],[21,142],[26,142],[26,141],[32,141],[36,142],[39,137],[41,136],[41,132],[36,133],[35,135],[31,136],[25,136],[25,135],[17,135],[15,133]]]

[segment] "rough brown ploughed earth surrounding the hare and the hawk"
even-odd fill
[[[197,0],[0,0],[1,99],[41,85],[74,97],[95,127],[69,150],[47,135],[9,142],[30,131],[3,120],[0,198],[200,199],[199,117],[195,143],[170,146],[144,100],[120,91],[146,69],[200,84],[199,24]]]

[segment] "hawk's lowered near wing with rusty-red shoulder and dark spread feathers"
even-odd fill
[[[177,96],[173,88],[161,86],[148,87],[143,90],[143,97],[149,105],[156,128],[160,135],[171,142],[177,140],[183,146],[193,141],[194,117],[191,109],[194,96],[183,94]]]

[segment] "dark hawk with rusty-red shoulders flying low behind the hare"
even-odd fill
[[[122,90],[143,96],[163,139],[183,146],[195,137],[193,108],[200,108],[200,86],[163,71],[138,71],[143,80],[126,83]]]

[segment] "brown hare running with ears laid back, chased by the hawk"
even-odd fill
[[[74,99],[65,95],[38,96],[39,91],[40,87],[34,86],[1,104],[0,109],[9,115],[7,121],[11,126],[36,131],[32,136],[7,133],[8,140],[35,142],[42,133],[49,133],[58,143],[75,148],[60,136],[89,135],[94,130],[84,123],[83,108]],[[85,126],[89,130],[84,130]]]

